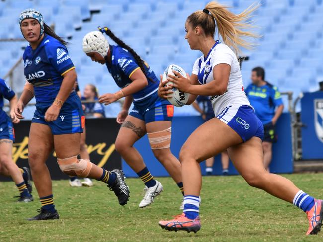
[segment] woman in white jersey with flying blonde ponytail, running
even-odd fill
[[[293,203],[306,212],[310,226],[307,234],[317,234],[320,230],[322,200],[307,195],[288,179],[268,173],[262,162],[263,126],[246,98],[237,56],[230,49],[237,52],[238,45],[250,47],[242,37],[256,36],[245,31],[252,26],[244,21],[255,8],[235,15],[224,6],[210,2],[203,11],[196,11],[187,18],[185,39],[191,49],[200,50],[203,55],[196,60],[190,78],[169,76],[168,80],[174,82],[174,87],[192,94],[189,103],[196,95],[211,96],[216,118],[198,127],[180,151],[184,212],[172,220],[160,221],[162,228],[188,232],[200,230],[198,215],[202,179],[199,162],[227,149],[236,169],[249,185]],[[214,39],[216,26],[223,44]],[[160,84],[159,95],[166,98],[171,91],[163,85]]]

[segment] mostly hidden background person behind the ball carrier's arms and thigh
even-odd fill
[[[198,96],[195,102],[192,103],[193,107],[199,112],[202,116],[204,122],[214,118],[214,112],[212,108],[212,103],[207,96]],[[207,176],[213,174],[213,164],[214,157],[205,160],[205,172]],[[227,151],[221,152],[221,164],[222,164],[222,175],[227,176],[229,174],[229,156]]]

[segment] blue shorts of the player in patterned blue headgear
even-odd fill
[[[75,93],[72,93],[64,102],[57,119],[52,122],[46,122],[44,116],[51,105],[52,102],[37,103],[31,122],[48,125],[54,135],[83,132],[85,116],[81,100]]]

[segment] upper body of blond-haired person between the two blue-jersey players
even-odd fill
[[[81,100],[93,101],[93,103],[84,103],[84,114],[86,118],[105,118],[104,106],[98,103],[97,89],[93,84],[87,84],[84,88]]]

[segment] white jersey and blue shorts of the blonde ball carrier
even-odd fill
[[[262,123],[244,92],[238,59],[227,45],[217,40],[206,57],[202,55],[195,61],[192,74],[204,85],[214,80],[213,69],[218,64],[228,64],[231,70],[227,91],[210,97],[215,116],[234,129],[244,142],[253,136],[262,139]]]

